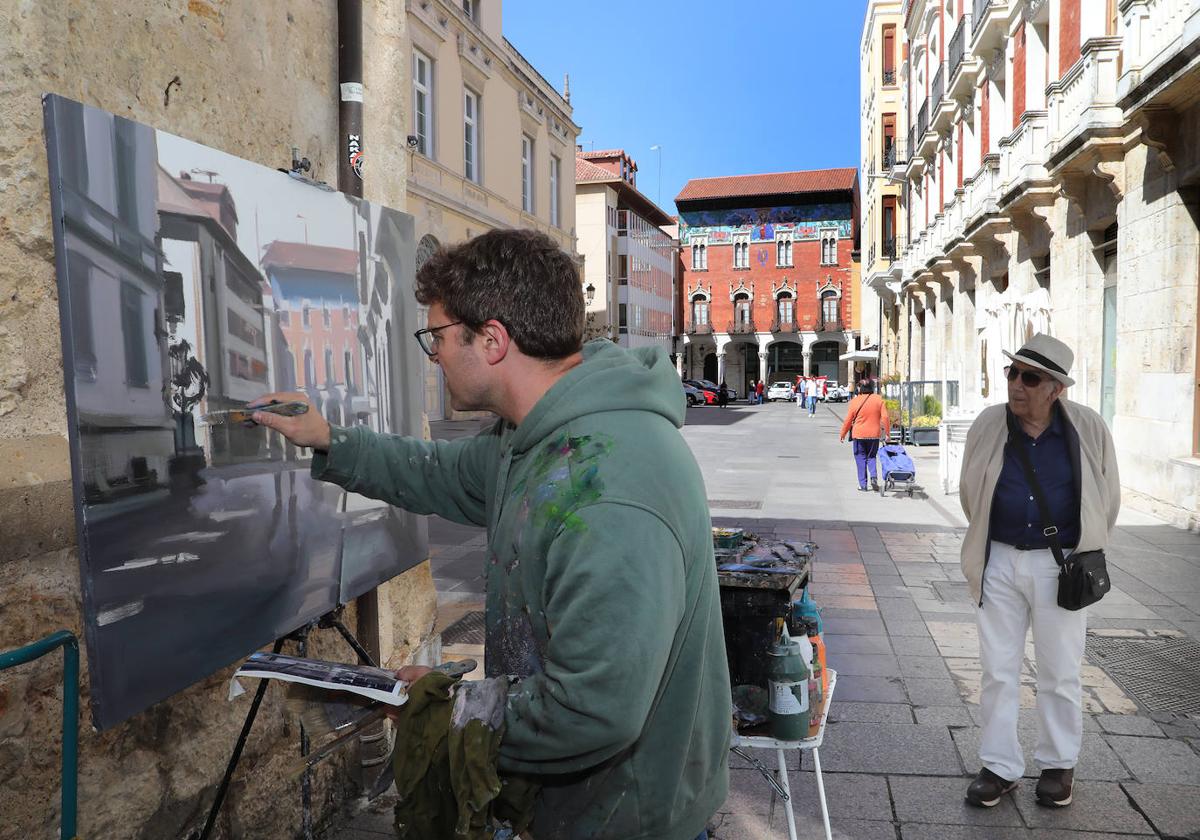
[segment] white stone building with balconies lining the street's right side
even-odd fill
[[[1200,0],[907,0],[902,37],[898,372],[943,383],[943,488],[1045,331],[1126,502],[1195,527]]]

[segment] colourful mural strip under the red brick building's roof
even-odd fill
[[[848,202],[834,204],[800,204],[775,208],[740,208],[734,210],[684,210],[679,214],[679,239],[708,236],[712,242],[727,242],[734,234],[750,234],[752,242],[774,241],[776,233],[790,233],[793,239],[820,239],[821,230],[836,227],[838,235],[853,235],[853,212]]]

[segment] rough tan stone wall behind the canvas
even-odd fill
[[[403,4],[364,4],[365,196],[406,206]],[[290,146],[337,180],[336,4],[286,0],[0,0],[0,650],[80,634],[43,92],[55,92],[270,167]],[[172,84],[178,78],[178,84]],[[169,85],[169,91],[168,91]],[[168,96],[169,92],[169,96]],[[378,592],[373,640],[398,665],[432,629],[428,563]],[[347,617],[353,626],[354,611]],[[322,631],[310,655],[347,659]],[[250,697],[214,674],[97,734],[84,708],[80,836],[186,836],[206,814]],[[0,674],[0,838],[56,836],[61,656]],[[290,838],[296,727],[268,691],[218,823],[223,838]],[[350,791],[346,758],[314,776],[319,821]]]

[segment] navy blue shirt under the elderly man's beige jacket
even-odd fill
[[[1034,440],[1020,422],[1009,414],[1013,437],[1020,436],[1025,451],[1030,454],[1033,474],[1037,475],[1050,509],[1050,522],[1058,527],[1058,542],[1063,548],[1079,544],[1079,487],[1072,468],[1070,440],[1067,436],[1062,409],[1056,404],[1050,426]],[[1022,548],[1049,548],[1033,499],[1025,468],[1018,456],[1016,440],[1004,446],[1004,467],[996,482],[996,494],[991,504],[991,539]]]

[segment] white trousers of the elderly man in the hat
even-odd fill
[[[1018,551],[991,544],[979,618],[983,665],[983,766],[1003,779],[1020,779],[1025,758],[1016,737],[1021,660],[1032,622],[1037,661],[1038,743],[1042,769],[1072,768],[1084,738],[1080,665],[1087,611],[1057,604],[1058,565],[1049,550]]]

